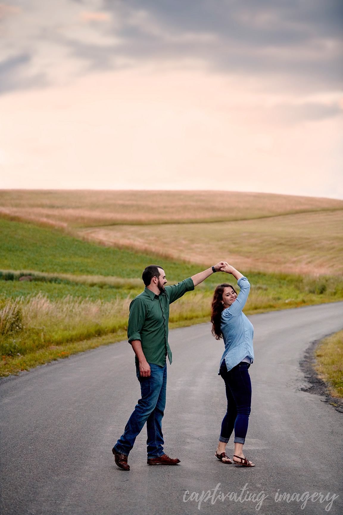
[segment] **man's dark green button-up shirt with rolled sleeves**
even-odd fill
[[[128,325],[129,342],[140,340],[148,363],[164,367],[167,354],[169,363],[172,362],[172,353],[168,343],[169,304],[182,297],[186,291],[193,289],[194,283],[189,277],[178,284],[165,286],[165,291],[159,295],[155,295],[149,288],[145,288],[131,302]]]

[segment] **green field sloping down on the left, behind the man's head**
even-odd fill
[[[1,269],[138,278],[147,265],[158,264],[168,270],[171,281],[202,270],[199,265],[103,247],[55,230],[4,219],[0,219],[0,241]]]

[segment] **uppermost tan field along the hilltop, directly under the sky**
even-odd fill
[[[328,198],[219,191],[0,191],[0,215],[60,228],[246,220],[343,210]]]

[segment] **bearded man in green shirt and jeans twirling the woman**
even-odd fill
[[[163,451],[162,418],[166,405],[167,363],[172,362],[168,344],[169,304],[182,297],[186,291],[203,282],[213,272],[218,272],[222,261],[203,272],[195,274],[173,286],[167,284],[162,267],[147,266],[142,273],[146,288],[130,304],[128,338],[136,354],[136,372],[140,383],[139,399],[124,433],[112,452],[118,467],[130,470],[128,455],[137,435],[147,422],[148,465],[176,465],[178,458],[170,458]]]

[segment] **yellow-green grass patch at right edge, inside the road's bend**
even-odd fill
[[[316,371],[332,397],[343,399],[343,331],[324,338],[315,352]]]

